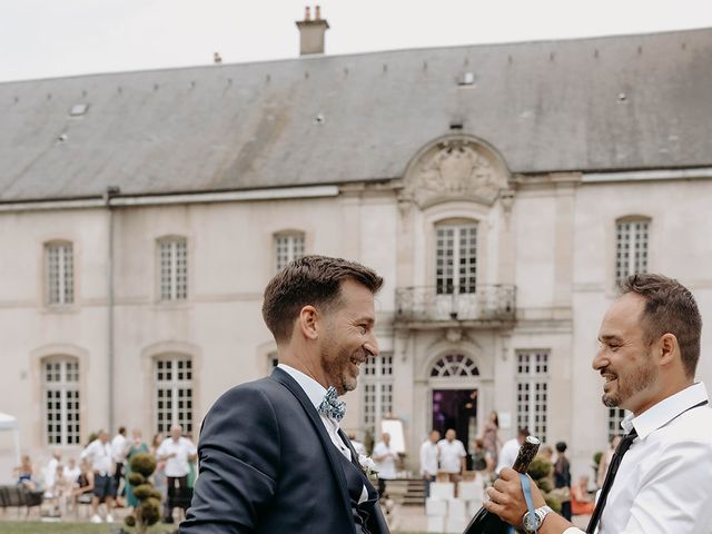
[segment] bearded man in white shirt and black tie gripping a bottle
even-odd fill
[[[630,434],[622,443],[632,444],[617,474],[610,468],[606,475],[589,532],[602,511],[600,534],[710,534],[712,409],[704,384],[694,382],[698,305],[684,286],[661,275],[633,275],[621,293],[603,318],[593,368],[605,379],[603,404],[632,412],[622,423]],[[520,477],[506,468],[501,476],[485,506],[522,527]],[[546,510],[534,484],[532,494],[537,508],[536,518],[527,517],[531,527],[537,523],[541,534],[582,532]]]

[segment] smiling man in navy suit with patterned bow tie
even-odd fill
[[[225,393],[202,423],[200,476],[181,534],[387,534],[377,493],[338,421],[336,397],[378,354],[383,279],[344,259],[307,256],[265,289],[279,366]]]

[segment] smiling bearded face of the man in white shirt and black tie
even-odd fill
[[[619,298],[603,318],[601,347],[593,368],[605,379],[603,404],[641,414],[659,397],[660,369],[652,347],[644,340],[641,315],[643,297],[627,293]]]

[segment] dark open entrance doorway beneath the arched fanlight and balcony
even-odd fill
[[[433,429],[445,437],[448,428],[465,445],[471,468],[469,442],[477,437],[477,389],[433,389]]]

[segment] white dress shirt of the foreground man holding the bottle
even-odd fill
[[[623,419],[639,437],[623,456],[600,534],[712,533],[712,409],[690,409],[706,399],[698,383]]]

